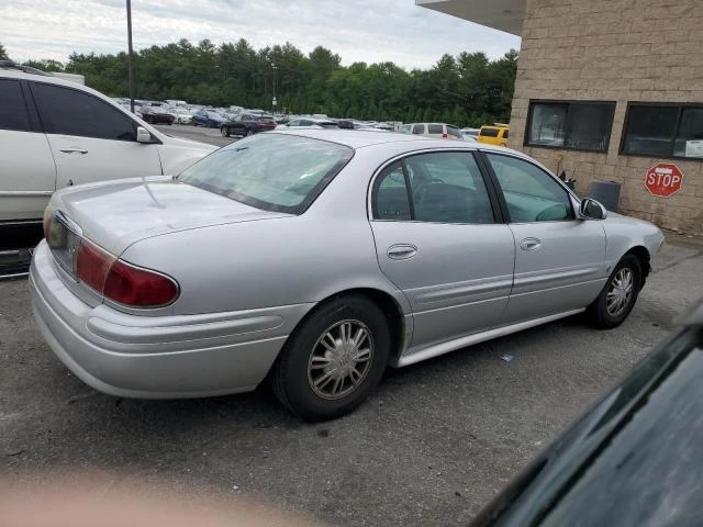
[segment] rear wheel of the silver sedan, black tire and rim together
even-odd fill
[[[271,371],[274,392],[305,421],[352,412],[381,380],[390,352],[383,312],[359,295],[339,296],[295,328]]]

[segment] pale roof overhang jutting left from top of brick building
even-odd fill
[[[415,0],[422,8],[522,36],[527,0]]]

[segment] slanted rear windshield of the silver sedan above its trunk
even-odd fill
[[[214,152],[178,179],[258,209],[302,214],[353,156],[335,143],[266,134]]]

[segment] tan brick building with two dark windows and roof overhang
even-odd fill
[[[581,195],[618,181],[621,212],[703,235],[702,0],[416,3],[522,36],[511,147],[566,171]]]

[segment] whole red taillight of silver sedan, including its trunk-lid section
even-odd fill
[[[82,242],[76,250],[76,277],[107,299],[132,307],[158,307],[178,298],[169,277],[130,266]]]

